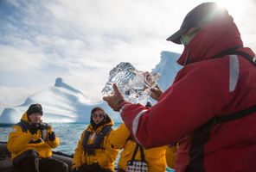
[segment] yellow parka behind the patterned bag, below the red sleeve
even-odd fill
[[[135,150],[136,143],[130,138],[130,132],[128,131],[125,124],[118,126],[118,129],[112,134],[110,142],[113,147],[117,149],[124,149],[120,153],[118,161],[118,168],[126,171],[126,164],[131,160],[133,151]],[[166,146],[151,148],[148,150],[144,149],[145,161],[148,163],[150,172],[163,172],[166,169],[165,160]],[[140,160],[140,152],[137,152],[135,159]]]

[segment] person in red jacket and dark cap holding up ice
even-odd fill
[[[183,68],[165,92],[151,89],[156,105],[125,101],[116,84],[103,99],[144,147],[177,142],[176,172],[255,171],[256,58],[233,17],[202,3],[167,40],[184,45]]]

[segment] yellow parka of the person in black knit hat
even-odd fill
[[[22,131],[21,123],[29,125],[30,121],[28,119],[27,112],[22,114],[22,119],[20,123],[12,126],[12,131],[10,132],[7,148],[11,152],[11,159],[13,160],[18,155],[22,154],[24,151],[35,150],[39,153],[39,157],[51,157],[52,149],[60,144],[60,138],[55,138],[54,141],[48,140],[48,133],[52,132],[52,127],[48,126],[43,131],[37,131],[32,135],[28,130]],[[44,123],[45,124],[45,123]],[[24,129],[23,129],[24,130]],[[45,139],[42,139],[44,134]],[[40,143],[29,143],[30,141],[41,140]]]

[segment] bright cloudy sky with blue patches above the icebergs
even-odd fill
[[[0,0],[0,113],[62,77],[93,101],[108,72],[128,61],[150,71],[160,52],[182,52],[165,39],[205,1]],[[256,3],[218,0],[256,51]]]

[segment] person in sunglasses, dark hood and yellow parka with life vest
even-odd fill
[[[114,132],[113,121],[101,107],[91,111],[90,125],[82,132],[74,153],[72,169],[80,172],[114,171],[118,150],[113,149],[109,137]]]

